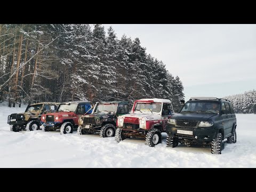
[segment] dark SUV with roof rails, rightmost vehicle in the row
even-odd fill
[[[212,154],[221,154],[222,140],[236,142],[236,115],[231,102],[218,98],[190,98],[166,126],[166,145],[178,143],[210,145]]]

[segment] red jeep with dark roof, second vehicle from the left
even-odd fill
[[[60,129],[61,134],[73,133],[77,129],[79,117],[92,113],[92,106],[88,101],[70,101],[60,103],[56,113],[42,115],[40,121],[44,131]]]

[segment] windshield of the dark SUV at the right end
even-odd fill
[[[180,113],[214,113],[220,111],[219,102],[215,101],[188,101]]]

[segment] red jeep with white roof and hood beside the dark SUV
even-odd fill
[[[130,137],[146,138],[146,145],[154,147],[162,142],[162,132],[172,117],[171,100],[140,99],[133,103],[130,114],[119,116],[116,125],[116,141]]]

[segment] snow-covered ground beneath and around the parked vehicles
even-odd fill
[[[166,148],[146,146],[143,139],[94,135],[61,135],[59,131],[11,132],[7,116],[25,111],[26,106],[7,107],[0,103],[0,167],[256,167],[256,115],[237,114],[237,142],[221,155],[210,147]]]

